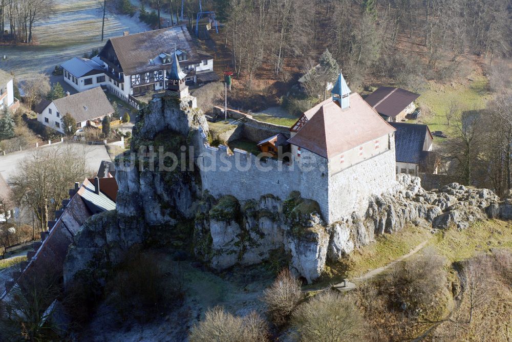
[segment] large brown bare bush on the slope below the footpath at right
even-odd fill
[[[434,251],[398,263],[388,272],[381,291],[411,313],[429,306],[446,285],[445,259]]]

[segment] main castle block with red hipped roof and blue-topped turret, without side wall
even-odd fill
[[[395,184],[395,129],[351,93],[341,73],[331,93],[297,120],[288,140],[293,162],[311,154],[317,161],[316,170],[302,171],[301,194],[318,202],[329,223],[366,210],[371,195]]]

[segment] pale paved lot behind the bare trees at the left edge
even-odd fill
[[[69,145],[77,154],[86,153],[87,166],[92,172],[97,172],[102,160],[110,160],[109,154],[106,152],[104,145],[83,145],[77,143]],[[39,148],[59,148],[59,146],[65,147],[65,144],[47,145]],[[18,163],[23,161],[25,158],[30,157],[34,150],[35,148],[31,148],[26,151],[0,156],[0,174],[9,181],[9,178],[16,174]]]

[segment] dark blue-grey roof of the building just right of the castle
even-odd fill
[[[404,122],[390,122],[389,124],[396,129],[396,161],[419,164],[429,127],[427,125]]]

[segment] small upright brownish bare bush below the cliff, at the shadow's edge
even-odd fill
[[[286,322],[301,299],[301,282],[288,269],[284,269],[278,274],[263,295],[270,319],[276,326]]]

